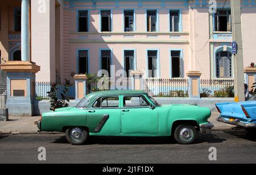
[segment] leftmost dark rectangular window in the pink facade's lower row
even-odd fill
[[[79,50],[79,74],[88,74],[88,50]]]

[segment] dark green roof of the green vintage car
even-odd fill
[[[134,91],[134,90],[110,90],[110,91],[98,91],[92,92],[86,95],[85,97],[89,100],[94,100],[98,96],[109,96],[109,95],[138,95],[138,94],[146,94],[144,91]]]

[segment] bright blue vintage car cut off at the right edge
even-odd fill
[[[217,121],[236,125],[249,130],[256,128],[256,101],[215,104],[220,116]]]

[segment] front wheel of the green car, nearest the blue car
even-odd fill
[[[191,125],[179,125],[175,128],[174,138],[179,144],[191,144],[195,141],[197,131]]]

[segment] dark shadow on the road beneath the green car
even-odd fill
[[[199,135],[196,142],[199,143],[221,143],[226,139],[218,138],[213,134]],[[68,143],[65,136],[61,136],[59,139],[52,143]],[[177,144],[176,140],[171,136],[90,136],[86,144]]]

